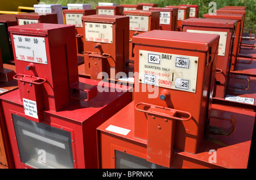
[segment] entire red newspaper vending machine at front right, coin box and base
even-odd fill
[[[100,168],[247,168],[255,112],[210,104],[219,37],[133,37],[134,101],[97,128]]]

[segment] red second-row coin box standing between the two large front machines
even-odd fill
[[[118,72],[124,72],[125,62],[129,59],[129,18],[119,15],[89,15],[82,17],[82,23],[85,31],[85,74],[89,74],[91,79],[102,79],[103,77],[98,77],[98,73],[105,72],[109,77],[110,74],[115,77]],[[90,36],[86,39],[86,32],[90,31],[90,27],[86,27],[85,23],[88,26],[91,24],[110,28],[108,32],[104,29],[98,30],[97,37]],[[112,39],[103,37],[106,34]]]

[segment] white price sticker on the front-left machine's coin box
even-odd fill
[[[13,35],[16,59],[47,64],[44,37]]]

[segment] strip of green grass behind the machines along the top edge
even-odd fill
[[[217,9],[224,6],[246,6],[246,18],[245,18],[245,27],[252,30],[255,34],[256,32],[256,14],[254,10],[256,9],[255,0],[41,0],[45,3],[58,3],[63,6],[67,6],[67,3],[88,3],[92,5],[92,9],[96,9],[98,2],[112,2],[118,3],[118,5],[137,5],[138,2],[143,3],[157,3],[158,7],[166,6],[177,6],[177,5],[200,5],[199,18],[203,18],[204,14],[207,14],[209,11],[209,3],[216,2]]]

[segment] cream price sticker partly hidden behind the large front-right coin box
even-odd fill
[[[226,51],[226,36],[227,32],[218,32],[218,31],[201,31],[201,30],[187,30],[187,32],[196,32],[196,33],[205,33],[220,35],[220,41],[218,43],[218,56],[225,56]]]

